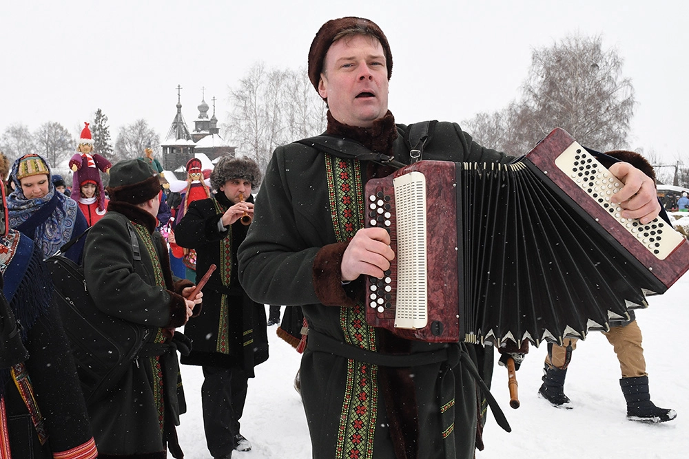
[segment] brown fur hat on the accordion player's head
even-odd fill
[[[311,84],[316,88],[316,91],[318,91],[318,82],[320,82],[325,54],[330,49],[330,45],[343,36],[353,35],[373,36],[380,41],[380,45],[385,52],[388,80],[392,76],[392,52],[390,51],[390,44],[383,31],[380,30],[380,27],[373,23],[373,21],[369,21],[369,19],[341,17],[340,19],[331,19],[323,24],[311,42],[311,49],[309,50],[309,80],[311,80]]]

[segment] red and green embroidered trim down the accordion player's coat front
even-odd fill
[[[335,235],[338,242],[348,241],[364,224],[360,163],[325,155],[325,169]],[[362,303],[340,308],[340,326],[347,343],[376,350],[376,334],[366,323]],[[336,459],[372,459],[377,418],[378,367],[350,359]]]

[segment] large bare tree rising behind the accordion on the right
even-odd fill
[[[485,114],[466,128],[484,145],[513,154],[526,153],[555,127],[599,151],[627,147],[635,102],[622,65],[616,50],[604,50],[600,36],[566,36],[533,50],[522,97],[489,115],[492,130],[484,131]]]

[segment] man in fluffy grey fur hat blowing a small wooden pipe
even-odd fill
[[[196,200],[175,228],[176,242],[196,250],[196,279],[215,264],[203,288],[203,309],[185,326],[194,341],[182,363],[203,366],[203,426],[214,458],[229,458],[233,449],[248,451],[240,433],[247,378],[268,358],[265,308],[251,301],[238,281],[237,248],[247,235],[243,215],[254,215],[251,190],[260,183],[258,164],[249,158],[225,157],[211,173],[214,198]]]

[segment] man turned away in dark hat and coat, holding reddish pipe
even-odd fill
[[[88,410],[100,458],[182,458],[175,426],[186,411],[177,351],[189,340],[174,329],[191,317],[192,282],[172,276],[156,231],[158,175],[141,160],[112,167],[107,213],[88,233],[84,277],[96,307],[150,331],[121,380]],[[134,239],[132,239],[134,237]],[[133,244],[133,240],[136,244]]]

